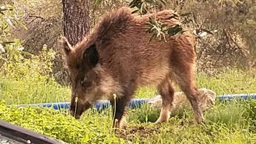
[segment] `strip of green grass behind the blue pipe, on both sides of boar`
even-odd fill
[[[208,88],[216,94],[240,94],[256,92],[256,78],[250,72],[237,69],[228,70],[216,76],[199,74],[196,77],[198,88]],[[178,87],[176,91],[180,91]],[[64,102],[70,100],[71,90],[62,87],[53,80],[13,80],[0,75],[0,99],[8,104],[29,104],[42,102]],[[134,98],[152,98],[157,95],[156,89],[140,88]]]

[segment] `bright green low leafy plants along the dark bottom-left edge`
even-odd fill
[[[124,140],[102,133],[90,120],[75,120],[51,108],[16,108],[0,100],[0,119],[70,144],[119,144]]]

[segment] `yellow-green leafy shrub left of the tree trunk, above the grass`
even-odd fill
[[[3,66],[5,76],[16,80],[24,78],[32,81],[48,80],[52,72],[54,54],[52,49],[47,51],[46,45],[43,46],[39,55],[32,55],[30,59],[24,58],[20,51],[15,51],[12,55],[8,55],[10,61]]]

